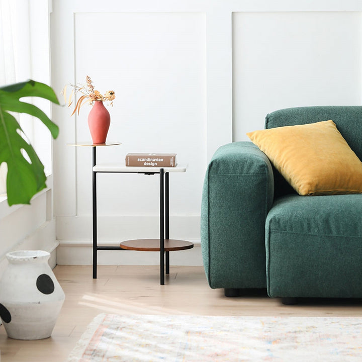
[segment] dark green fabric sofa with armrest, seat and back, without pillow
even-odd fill
[[[279,110],[265,128],[329,119],[361,160],[362,107]],[[361,298],[362,194],[299,196],[257,146],[233,142],[207,168],[201,246],[208,283],[226,296]]]

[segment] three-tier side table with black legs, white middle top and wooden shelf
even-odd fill
[[[134,167],[124,163],[97,164],[97,147],[115,146],[120,142],[106,142],[94,144],[92,142],[79,142],[71,146],[88,146],[93,148],[92,153],[92,189],[93,189],[93,278],[97,279],[97,252],[99,250],[139,250],[159,251],[160,253],[160,284],[164,285],[164,276],[169,274],[169,252],[186,250],[194,244],[186,240],[169,238],[169,172],[186,172],[187,166],[175,167]],[[97,244],[97,174],[98,173],[143,173],[146,175],[159,174],[159,239],[134,239],[120,243],[120,246],[99,246]],[[166,264],[166,265],[165,265]],[[166,269],[165,269],[166,267]]]

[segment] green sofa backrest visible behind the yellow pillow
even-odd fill
[[[265,128],[294,126],[332,120],[349,147],[362,160],[362,107],[314,106],[286,108],[266,115]],[[274,169],[275,197],[295,193],[284,177]]]

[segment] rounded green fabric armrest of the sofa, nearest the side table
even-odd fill
[[[265,219],[273,203],[272,165],[251,142],[220,147],[207,168],[201,246],[211,288],[266,288]]]

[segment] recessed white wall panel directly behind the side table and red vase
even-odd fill
[[[98,31],[89,33],[89,24]],[[198,215],[206,122],[205,15],[202,13],[77,13],[75,78],[92,77],[101,93],[116,92],[108,140],[100,162],[123,161],[128,152],[174,152],[188,163],[170,175],[171,213]],[[89,140],[84,106],[77,141]],[[77,214],[91,213],[91,149],[77,148]],[[158,212],[158,177],[99,175],[99,213]]]

